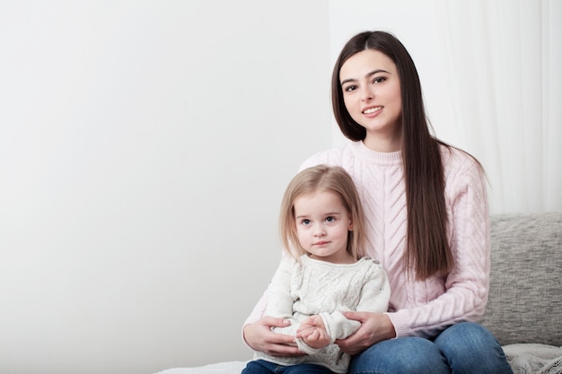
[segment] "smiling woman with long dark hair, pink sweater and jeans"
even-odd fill
[[[342,49],[332,74],[332,105],[352,142],[321,152],[352,176],[367,217],[367,256],[391,283],[387,313],[348,312],[361,327],[337,341],[354,355],[349,373],[511,373],[496,338],[473,321],[487,302],[489,217],[484,172],[468,153],[429,131],[408,51],[382,31]],[[244,326],[251,348],[302,354],[262,317],[268,291]]]

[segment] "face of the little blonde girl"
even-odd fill
[[[347,252],[351,215],[337,194],[317,191],[298,196],[294,219],[299,242],[312,258],[336,264],[355,262]]]

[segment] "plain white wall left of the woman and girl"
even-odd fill
[[[0,2],[0,372],[244,360],[329,4]]]

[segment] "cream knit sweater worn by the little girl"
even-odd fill
[[[350,356],[341,352],[336,339],[356,332],[360,324],[349,320],[343,311],[383,312],[388,308],[390,284],[378,261],[364,257],[355,264],[332,264],[308,256],[295,260],[285,257],[271,280],[265,315],[284,317],[287,327],[276,327],[279,334],[295,335],[308,317],[320,315],[332,344],[314,349],[297,339],[303,357],[273,357],[256,352],[255,358],[281,365],[314,363],[337,373],[347,372]]]

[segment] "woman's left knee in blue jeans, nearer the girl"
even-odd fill
[[[374,344],[351,359],[349,374],[441,374],[449,373],[446,362],[433,342],[404,337]]]

